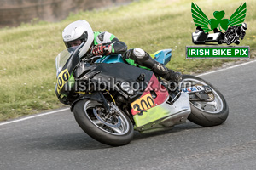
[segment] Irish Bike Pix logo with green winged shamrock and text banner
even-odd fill
[[[249,58],[248,46],[216,46],[216,44],[240,44],[246,35],[247,24],[244,22],[247,13],[247,3],[242,3],[236,11],[225,16],[224,10],[214,11],[213,17],[207,15],[195,3],[191,3],[191,14],[195,23],[192,42],[195,45],[205,44],[215,46],[187,46],[188,58]],[[211,33],[213,31],[213,33]]]

